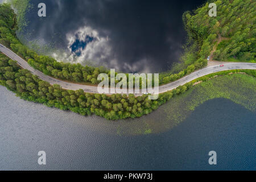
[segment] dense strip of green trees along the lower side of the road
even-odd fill
[[[133,94],[90,94],[80,90],[64,90],[59,85],[50,85],[32,75],[27,69],[20,69],[14,60],[0,54],[0,84],[6,86],[24,100],[39,102],[61,110],[71,110],[81,115],[92,113],[106,119],[141,117],[172,98],[185,92],[192,84],[160,94],[158,100],[148,100],[148,96],[134,97]]]

